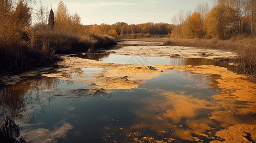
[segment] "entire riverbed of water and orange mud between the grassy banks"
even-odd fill
[[[232,72],[236,53],[124,41],[62,57],[0,76],[0,113],[27,142],[256,140],[256,83]]]

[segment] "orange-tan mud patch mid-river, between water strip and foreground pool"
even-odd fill
[[[48,73],[42,76],[84,82],[91,88],[111,90],[138,87],[165,70],[147,65],[114,64],[70,57],[64,57],[64,59],[64,61],[58,62],[58,65],[63,68],[57,69],[57,73]],[[88,77],[88,73],[82,70],[86,68],[101,68],[101,70],[92,71],[91,77]],[[73,75],[76,75],[75,78]]]

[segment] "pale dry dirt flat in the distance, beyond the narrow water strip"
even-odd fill
[[[126,41],[127,43],[128,41]],[[134,41],[129,41],[134,43]],[[109,50],[119,55],[130,56],[155,56],[155,57],[183,57],[183,58],[206,58],[206,59],[226,59],[238,57],[235,52],[200,49],[192,47],[178,47],[168,45],[137,45],[127,46],[121,49]]]

